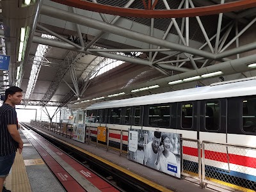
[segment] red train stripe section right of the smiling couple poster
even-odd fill
[[[198,150],[197,148],[183,146],[183,154],[198,157]],[[256,168],[256,158],[254,157],[245,157],[245,156],[239,156],[235,154],[227,155],[226,153],[222,153],[222,152],[205,150],[205,159],[211,159],[211,160],[220,161],[223,163],[228,163],[228,159],[229,159],[229,163]]]

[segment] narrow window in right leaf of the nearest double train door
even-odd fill
[[[205,103],[205,129],[218,131],[220,128],[220,102],[214,100]]]

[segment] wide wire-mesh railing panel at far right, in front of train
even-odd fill
[[[229,191],[255,191],[256,182],[250,179],[250,175],[256,175],[255,155],[256,147],[202,141],[203,186],[211,184]]]

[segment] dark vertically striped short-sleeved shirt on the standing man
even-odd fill
[[[9,104],[0,108],[0,156],[7,156],[16,152],[19,143],[13,140],[7,125],[17,125],[17,113]]]

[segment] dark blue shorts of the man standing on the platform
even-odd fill
[[[7,156],[0,156],[0,177],[7,177],[9,174],[12,164],[14,162],[15,154],[9,154]]]

